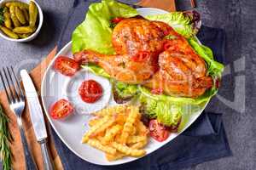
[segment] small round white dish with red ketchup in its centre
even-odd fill
[[[82,70],[67,83],[67,98],[79,114],[101,111],[112,97],[112,86],[105,77]]]

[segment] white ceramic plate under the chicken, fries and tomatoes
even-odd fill
[[[167,13],[164,10],[158,8],[138,8],[139,14],[148,15],[148,14],[165,14]],[[72,57],[71,53],[71,42],[61,49],[59,55],[66,55]],[[42,82],[41,92],[42,100],[44,105],[44,111],[49,119],[51,126],[55,129],[55,132],[58,134],[60,139],[63,141],[67,147],[73,151],[74,154],[84,159],[84,161],[90,161],[94,164],[99,165],[118,165],[123,164],[129,161],[137,160],[138,158],[125,157],[118,161],[107,161],[102,151],[96,150],[90,147],[88,144],[81,144],[81,139],[84,132],[87,131],[88,126],[87,122],[90,120],[90,114],[86,114],[90,111],[99,110],[105,105],[116,105],[111,96],[111,85],[107,79],[92,75],[91,73],[85,74],[88,71],[82,70],[79,71],[74,77],[65,77],[60,73],[56,72],[53,69],[53,63],[55,59],[49,64],[47,71],[44,74],[44,79]],[[84,73],[85,72],[85,73]],[[87,76],[85,76],[87,75]],[[86,105],[84,109],[84,103],[79,100],[77,88],[82,79],[86,77],[93,77],[96,81],[101,82],[104,88],[104,99],[96,102],[96,105]],[[77,83],[77,84],[76,84]],[[64,120],[56,121],[49,116],[49,107],[58,99],[69,99],[75,104],[75,114],[69,116]],[[84,104],[84,105],[83,105]],[[148,145],[146,146],[147,154],[153,152],[154,150],[159,149],[164,144],[169,142],[172,143],[172,139],[176,138],[180,133],[182,133],[187,127],[189,127],[198,116],[201,115],[201,112],[207,104],[201,105],[200,109],[193,108],[190,111],[190,114],[183,115],[182,122],[178,128],[177,133],[172,133],[166,141],[159,143],[154,139],[149,140]],[[87,109],[89,108],[89,109]],[[188,109],[191,109],[188,107]],[[85,113],[85,114],[84,114]]]

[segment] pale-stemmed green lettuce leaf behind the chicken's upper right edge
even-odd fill
[[[194,37],[195,34],[198,32],[198,28],[193,25],[193,22],[189,15],[186,15],[183,12],[148,15],[145,18],[148,20],[166,22],[167,24],[172,26],[175,31],[183,35],[183,37]]]

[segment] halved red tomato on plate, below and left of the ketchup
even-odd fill
[[[49,113],[54,119],[61,119],[70,115],[73,112],[73,105],[67,99],[60,99],[51,106]]]

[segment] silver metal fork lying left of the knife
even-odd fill
[[[31,151],[28,148],[26,135],[22,127],[21,116],[25,108],[25,97],[22,88],[20,87],[20,83],[18,82],[17,77],[15,76],[15,71],[13,67],[3,67],[3,72],[0,71],[0,77],[3,82],[5,94],[9,101],[9,108],[11,109],[11,111],[15,113],[15,116],[17,118],[17,124],[20,129],[20,136],[23,144],[24,156],[26,159],[26,170],[37,170],[38,167],[35,161],[33,160]],[[13,88],[11,88],[12,86]]]

